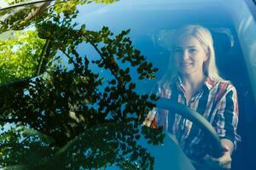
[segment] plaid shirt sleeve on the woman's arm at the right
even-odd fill
[[[236,149],[240,136],[236,133],[238,124],[238,99],[236,88],[229,84],[223,97],[219,100],[216,113],[216,131],[220,139],[230,139]]]

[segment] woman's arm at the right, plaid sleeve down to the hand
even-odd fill
[[[236,88],[233,85],[229,85],[226,94],[220,99],[216,107],[218,113],[214,127],[221,139],[224,154],[218,158],[206,156],[205,160],[209,167],[230,169],[231,155],[236,148],[236,127],[238,122],[237,94]]]

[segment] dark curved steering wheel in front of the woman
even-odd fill
[[[194,122],[198,127],[201,128],[203,132],[206,133],[207,137],[210,139],[213,149],[212,156],[223,156],[223,147],[221,145],[218,134],[204,116],[201,116],[201,114],[193,111],[188,106],[179,104],[177,101],[173,101],[171,99],[158,99],[156,102],[156,107],[177,112],[177,114],[189,119],[191,122]]]

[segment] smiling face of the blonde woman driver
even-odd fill
[[[196,37],[179,37],[173,53],[177,71],[182,76],[203,74],[203,63],[207,60],[207,53]]]

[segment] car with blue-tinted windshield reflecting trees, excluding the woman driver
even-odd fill
[[[0,3],[1,166],[195,169],[172,136],[142,122],[160,103],[152,89],[167,70],[173,34],[196,24],[212,32],[218,70],[238,93],[232,169],[255,169],[255,17],[253,0]],[[218,150],[212,127],[189,118]]]

